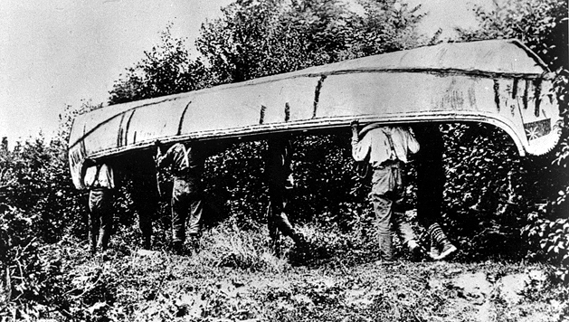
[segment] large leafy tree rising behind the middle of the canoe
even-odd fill
[[[420,43],[417,8],[394,0],[360,2],[361,16],[339,0],[236,1],[202,25],[195,44],[217,83],[229,83]]]

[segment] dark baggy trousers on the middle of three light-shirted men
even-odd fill
[[[186,231],[192,236],[198,236],[203,213],[204,201],[199,176],[175,177],[172,191],[172,242],[184,242]]]

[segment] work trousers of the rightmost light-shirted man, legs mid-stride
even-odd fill
[[[374,168],[370,199],[374,205],[376,232],[382,256],[385,260],[393,260],[391,225],[403,243],[407,244],[415,239],[411,225],[404,218],[400,162],[388,162],[384,166]]]

